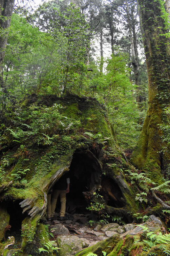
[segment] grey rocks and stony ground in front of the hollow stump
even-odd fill
[[[136,235],[142,231],[142,227],[131,223],[122,226],[117,223],[90,226],[89,219],[91,216],[84,214],[73,214],[68,217],[70,219],[60,221],[58,214],[56,214],[55,220],[46,221],[49,224],[49,232],[53,234],[53,238],[51,238],[53,245],[60,248],[59,256],[74,255],[77,251],[115,234],[125,237],[127,234]],[[142,225],[147,225],[152,231],[159,229],[166,233],[162,222],[154,215],[151,215],[149,221]]]

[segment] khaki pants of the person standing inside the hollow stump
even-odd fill
[[[53,194],[47,195],[47,218],[54,216],[57,198],[59,195],[61,202],[60,217],[64,217],[66,211],[66,190],[53,190]]]

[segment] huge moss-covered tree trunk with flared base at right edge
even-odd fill
[[[133,161],[155,180],[159,180],[161,172],[165,171],[169,156],[161,153],[164,145],[159,127],[166,122],[163,108],[170,102],[170,43],[163,8],[159,0],[138,0],[149,95],[148,110]]]

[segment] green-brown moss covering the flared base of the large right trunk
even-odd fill
[[[158,184],[162,180],[159,154],[162,131],[158,126],[162,122],[161,114],[162,109],[156,104],[148,108],[137,148],[132,154],[132,161],[138,169],[143,169]]]

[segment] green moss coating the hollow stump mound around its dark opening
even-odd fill
[[[30,96],[31,99],[31,96]],[[26,102],[25,102],[26,103]],[[25,106],[25,117],[27,113],[27,106]],[[48,104],[47,104],[48,103]],[[73,122],[79,121],[78,125],[75,125],[71,129],[63,129],[57,128],[53,131],[53,134],[56,135],[53,143],[51,145],[43,145],[36,142],[36,135],[32,136],[33,139],[24,141],[24,149],[18,148],[18,150],[11,151],[7,153],[7,157],[10,156],[11,159],[15,159],[15,166],[11,173],[19,169],[30,169],[24,178],[27,179],[28,183],[21,188],[20,181],[17,184],[13,183],[13,186],[5,192],[6,198],[16,199],[33,199],[34,206],[39,208],[41,212],[41,207],[44,204],[44,193],[48,189],[48,185],[51,182],[51,177],[53,174],[56,174],[57,171],[63,166],[67,166],[71,163],[74,152],[77,149],[94,149],[94,145],[96,143],[96,148],[99,146],[98,150],[98,159],[102,162],[106,161],[106,158],[109,158],[109,161],[117,163],[117,167],[113,170],[109,170],[110,174],[108,177],[118,179],[119,176],[119,168],[121,162],[122,165],[125,165],[125,161],[122,159],[121,152],[117,148],[117,144],[115,143],[115,132],[112,125],[109,123],[109,119],[107,117],[106,111],[104,108],[94,99],[80,99],[76,96],[70,96],[65,98],[57,98],[55,96],[37,96],[35,105],[44,105],[52,106],[54,103],[61,104],[64,108],[60,110],[60,114],[62,116],[66,116],[67,118],[73,119]],[[28,100],[28,105],[31,104],[31,101]],[[70,120],[69,119],[69,120]],[[97,142],[91,139],[88,136],[84,135],[84,131],[90,131],[94,135],[96,133],[101,133],[101,140],[99,139]],[[48,131],[47,131],[48,132]],[[51,131],[49,131],[50,134]],[[105,138],[109,138],[108,143],[103,144],[103,140]],[[95,142],[95,143],[94,143]],[[101,149],[105,146],[105,151]],[[108,152],[108,154],[107,154]],[[106,158],[104,159],[104,154]],[[25,159],[29,159],[25,161]],[[116,160],[117,159],[117,160]],[[12,161],[11,161],[12,162]],[[10,170],[10,169],[9,169]],[[121,191],[125,198],[125,204],[128,206],[118,209],[121,216],[125,216],[127,211],[135,212],[136,205],[134,204],[135,195],[132,193],[131,188],[125,182],[125,188],[121,188]],[[118,181],[118,180],[117,180]],[[116,181],[115,181],[116,182]],[[118,182],[117,182],[118,184]],[[42,213],[42,212],[41,212]],[[130,214],[129,214],[130,215]],[[23,251],[33,243],[35,236],[37,236],[37,240],[39,238],[39,242],[42,243],[43,237],[46,237],[45,230],[42,225],[37,227],[37,223],[39,220],[40,214],[34,217],[32,220],[30,217],[24,219],[22,223],[22,249]],[[36,230],[37,227],[37,230]],[[39,232],[42,230],[42,232]],[[46,238],[45,238],[46,239]],[[109,238],[105,240],[105,242],[100,242],[98,245],[93,247],[93,252],[96,254],[102,254],[101,251],[106,251],[110,253],[111,248],[109,242],[112,242],[114,246],[116,246],[119,241],[119,237],[115,236],[113,238]],[[99,247],[100,246],[100,247]],[[88,252],[91,251],[91,248],[87,249]]]

